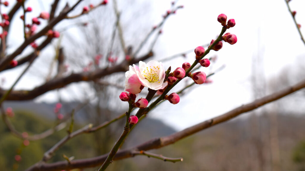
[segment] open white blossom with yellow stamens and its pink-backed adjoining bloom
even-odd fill
[[[139,67],[129,66],[129,71],[125,73],[125,76],[125,90],[132,94],[141,92],[142,86],[159,90],[167,85],[167,82],[164,82],[165,70],[162,62],[156,60],[149,61],[147,64],[139,61]]]

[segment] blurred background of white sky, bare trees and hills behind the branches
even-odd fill
[[[8,2],[14,4],[15,0]],[[52,2],[27,0],[26,6],[33,8],[33,12],[28,14],[28,22],[41,11],[50,11]],[[67,2],[72,5],[76,1],[61,0],[58,8],[64,8]],[[84,0],[69,15],[77,15],[84,6],[99,2]],[[33,89],[52,79],[56,75],[59,49],[64,52],[67,68],[63,75],[111,67],[125,60],[114,2],[117,2],[120,12],[125,45],[133,53],[152,28],[163,20],[167,10],[184,6],[167,18],[162,33],[153,34],[137,55],[140,57],[152,50],[154,56],[149,60],[162,61],[164,68],[181,67],[186,61],[192,64],[195,60],[193,50],[200,45],[209,45],[221,32],[221,24],[217,22],[221,13],[228,19],[235,19],[236,25],[227,32],[238,38],[236,44],[224,42],[220,51],[208,54],[208,58],[213,58],[210,67],[199,70],[206,74],[215,72],[209,83],[187,89],[177,105],[165,102],[152,110],[131,132],[122,148],[180,131],[305,78],[305,44],[284,0],[179,0],[174,1],[174,6],[167,0],[109,0],[106,6],[87,15],[66,19],[56,25],[55,30],[61,33],[61,37],[41,51],[15,90]],[[296,21],[305,25],[305,2],[292,0],[289,4],[297,12]],[[5,12],[9,7],[1,10]],[[56,12],[58,15],[59,10]],[[17,11],[11,22],[8,53],[23,42],[23,22],[19,18],[22,14],[21,10]],[[45,24],[41,23],[38,30]],[[300,30],[305,32],[303,26]],[[42,41],[43,38],[36,42]],[[20,56],[31,51],[28,47]],[[97,55],[101,56],[99,62],[95,61]],[[9,89],[25,67],[1,72],[2,89]],[[41,133],[61,122],[69,124],[70,113],[77,108],[74,128],[77,130],[89,123],[98,125],[127,111],[128,104],[118,98],[124,91],[124,81],[124,72],[120,72],[94,82],[73,83],[34,100],[6,101],[4,107],[13,109],[14,116],[10,120],[16,130],[29,135]],[[171,92],[177,92],[191,82],[191,79],[185,79]],[[138,97],[145,97],[146,93],[147,89],[143,89]],[[57,103],[62,107],[55,112]],[[168,157],[183,157],[183,162],[163,162],[136,156],[115,161],[108,170],[304,171],[304,104],[305,91],[301,90],[174,145],[152,151]],[[45,151],[67,134],[67,127],[45,139],[24,144],[10,134],[4,124],[0,124],[0,168],[24,170],[38,162]],[[64,160],[63,154],[82,159],[108,153],[123,127],[124,119],[95,133],[73,138],[56,152],[50,162]],[[21,159],[16,160],[16,155]]]

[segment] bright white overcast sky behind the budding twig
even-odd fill
[[[169,9],[170,2],[152,1],[156,23]],[[238,41],[234,45],[224,42],[220,51],[211,51],[208,54],[208,57],[214,54],[218,56],[213,69],[226,65],[224,70],[212,77],[212,84],[196,85],[192,91],[181,97],[180,103],[174,106],[163,103],[149,114],[177,129],[197,124],[250,102],[253,55],[263,55],[262,65],[264,65],[267,79],[277,75],[285,66],[293,65],[297,56],[304,56],[305,46],[300,40],[284,0],[180,0],[178,4],[184,5],[184,9],[179,9],[165,23],[163,34],[154,48],[157,50],[155,59],[194,49],[215,39],[221,31],[221,24],[217,22],[217,16],[221,13],[226,14],[228,19],[235,19],[235,27],[227,32],[235,34]],[[35,4],[32,5],[35,7]],[[305,33],[305,11],[303,10],[305,2],[292,0],[290,5],[292,10],[297,11],[296,20],[303,25],[301,31]],[[48,7],[49,5],[45,5],[46,10]],[[17,30],[20,27],[14,26],[13,29]],[[22,36],[22,31],[20,35]],[[20,35],[12,36],[12,39],[16,41],[16,44],[12,46],[18,44]],[[164,68],[170,65],[172,68],[177,68],[185,61],[192,63],[194,55],[188,55],[186,59],[178,58],[174,62],[165,62],[163,65]],[[23,67],[20,67],[0,75],[0,78],[7,79],[5,87],[12,84],[22,69]],[[209,73],[209,68],[202,68],[201,71]],[[42,79],[26,75],[16,88],[30,89],[42,82]],[[48,93],[41,96],[39,101],[52,101],[52,97],[55,95]]]

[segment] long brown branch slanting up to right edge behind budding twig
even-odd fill
[[[275,100],[278,100],[282,97],[285,97],[289,94],[292,94],[293,92],[296,92],[300,89],[305,88],[305,80],[297,83],[296,85],[290,86],[288,88],[285,88],[281,91],[275,92],[271,95],[264,96],[263,98],[254,100],[251,103],[248,103],[246,105],[242,105],[240,107],[237,107],[227,113],[224,113],[218,117],[214,117],[213,119],[206,120],[204,122],[201,122],[197,125],[194,125],[192,127],[188,127],[185,130],[176,132],[174,134],[171,134],[169,136],[165,137],[160,137],[160,138],[154,138],[150,141],[146,141],[145,143],[135,146],[133,148],[129,148],[126,150],[120,150],[117,152],[116,156],[114,157],[115,160],[120,160],[120,159],[125,159],[129,157],[133,157],[132,152],[134,150],[151,150],[151,149],[156,149],[156,148],[161,148],[170,144],[173,144],[174,142],[177,142],[185,137],[188,137],[192,134],[195,134],[199,131],[202,131],[204,129],[207,129],[211,126],[223,123],[225,121],[228,121],[234,117],[239,116],[242,113],[249,112],[251,110],[257,109],[260,106],[263,106],[267,103],[273,102]],[[26,171],[39,171],[39,170],[44,170],[44,171],[55,171],[55,170],[69,170],[69,169],[74,169],[74,168],[88,168],[88,167],[95,167],[99,166],[102,164],[105,159],[107,158],[108,154],[93,157],[93,158],[88,158],[88,159],[78,159],[78,160],[73,160],[70,163],[66,161],[60,161],[60,162],[54,162],[54,163],[43,163],[40,165],[34,165],[31,166],[29,169]]]

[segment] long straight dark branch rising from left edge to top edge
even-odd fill
[[[2,71],[7,65],[9,65],[9,62],[12,61],[17,55],[21,54],[22,51],[34,40],[38,39],[39,37],[45,35],[45,33],[48,32],[48,30],[52,29],[53,26],[55,26],[57,23],[59,23],[61,20],[63,20],[66,15],[72,11],[82,0],[78,0],[71,8],[69,9],[63,9],[63,11],[57,16],[56,18],[52,19],[42,30],[40,30],[38,33],[34,34],[31,37],[28,37],[27,40],[25,40],[12,54],[8,55],[6,58],[2,59],[0,61],[0,71]]]

